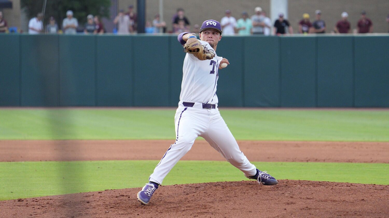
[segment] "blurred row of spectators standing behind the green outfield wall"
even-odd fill
[[[361,18],[355,24],[351,24],[348,20],[349,14],[347,14],[347,12],[343,12],[340,14],[340,20],[336,22],[335,26],[333,27],[326,26],[326,22],[324,19],[322,19],[321,10],[316,10],[314,14],[315,19],[312,22],[308,13],[302,14],[302,19],[298,23],[298,30],[296,30],[297,33],[312,34],[373,32],[373,22],[371,22],[371,20],[366,17],[365,11],[361,12]],[[39,13],[36,17],[30,19],[28,23],[28,33],[103,34],[107,32],[101,18],[97,15],[89,14],[87,16],[87,22],[84,25],[79,25],[77,18],[73,17],[73,12],[71,10],[66,12],[66,16],[67,17],[62,21],[60,29],[58,22],[54,19],[54,17],[50,17],[46,27],[44,27],[42,22],[43,15]],[[232,16],[231,10],[225,11],[225,16],[220,21],[223,35],[259,34],[268,36],[294,33],[290,22],[284,17],[283,13],[279,13],[278,19],[273,22],[267,16],[266,11],[262,10],[261,7],[255,7],[254,14],[251,16],[246,11],[242,12],[240,16],[241,17],[237,20]],[[137,21],[137,14],[134,11],[134,7],[133,5],[130,5],[127,11],[120,10],[118,15],[113,19],[112,22],[115,24],[113,33],[137,33]],[[171,22],[172,29],[168,30],[166,27],[166,22],[161,21],[159,14],[156,14],[152,21],[145,22],[145,33],[198,33],[200,29],[198,24],[191,26],[189,19],[185,16],[185,10],[182,8],[177,9],[176,14],[174,14],[172,17]],[[386,17],[386,22],[389,23],[389,14]],[[0,33],[12,31],[15,30],[12,30],[12,28],[9,29],[7,26],[7,21],[4,19],[3,14],[0,11]]]

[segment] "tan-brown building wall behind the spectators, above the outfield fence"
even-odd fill
[[[224,16],[226,9],[232,10],[232,15],[239,18],[242,11],[247,11],[249,15],[254,14],[254,8],[259,6],[270,13],[270,0],[245,0],[239,1],[193,1],[193,0],[163,0],[164,20],[168,24],[168,30],[172,29],[171,18],[177,8],[186,10],[185,14],[191,24],[202,24],[207,19],[220,19]],[[136,7],[137,0],[119,0],[119,9],[127,10],[128,5]],[[158,13],[159,0],[146,0],[147,20],[152,21],[154,15]],[[346,11],[349,14],[349,21],[352,28],[356,27],[360,18],[361,10],[367,12],[367,17],[373,22],[375,33],[387,33],[388,23],[385,21],[389,14],[389,1],[387,0],[289,0],[289,21],[294,32],[298,31],[298,22],[302,19],[303,13],[311,16],[314,21],[316,9],[322,11],[322,19],[326,21],[328,33],[333,29],[336,22],[340,20],[340,14]],[[269,14],[270,15],[270,14]],[[193,26],[193,25],[191,25]]]

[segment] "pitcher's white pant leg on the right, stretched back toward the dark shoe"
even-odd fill
[[[256,174],[256,167],[240,151],[237,141],[220,115],[210,122],[207,132],[201,136],[245,175],[253,176]]]

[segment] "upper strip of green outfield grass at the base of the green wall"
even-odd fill
[[[175,109],[0,109],[1,139],[174,139]],[[389,141],[389,110],[224,109],[237,140]]]

